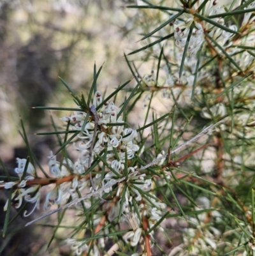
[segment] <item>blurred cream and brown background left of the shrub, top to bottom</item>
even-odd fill
[[[128,1],[99,0],[0,0],[0,156],[13,173],[16,158],[26,158],[27,150],[18,133],[20,117],[29,143],[47,169],[50,149],[57,146],[53,136],[33,133],[52,131],[55,120],[70,113],[34,110],[30,107],[75,107],[58,77],[86,94],[97,70],[104,64],[98,88],[107,94],[131,79],[123,57],[137,47],[131,19],[135,13],[124,11]],[[150,70],[149,70],[150,72]],[[1,170],[1,169],[0,169]],[[3,172],[2,174],[3,175]],[[7,195],[0,191],[0,226]],[[41,199],[43,201],[43,199]],[[41,210],[43,203],[41,203]],[[15,216],[15,208],[11,217]],[[40,213],[37,211],[37,215]],[[36,214],[29,218],[35,218]],[[61,230],[47,250],[52,229],[24,228],[28,218],[17,218],[0,238],[0,255],[69,255]],[[58,246],[54,246],[54,245]]]

